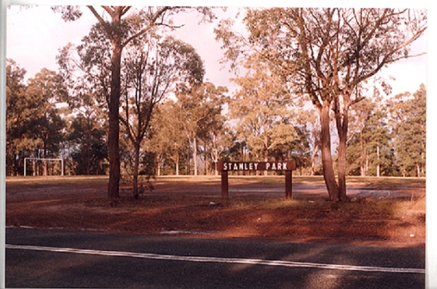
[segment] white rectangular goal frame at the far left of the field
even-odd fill
[[[64,175],[63,158],[24,158],[26,175]]]

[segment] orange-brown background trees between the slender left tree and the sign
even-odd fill
[[[233,134],[222,115],[226,91],[212,83],[182,85],[177,100],[167,100],[158,106],[158,114],[152,119],[153,137],[147,147],[157,153],[162,173],[179,175],[189,169],[190,160],[194,162],[195,173],[194,160],[198,156],[204,160],[204,173],[213,171],[213,162],[221,159],[233,144]]]

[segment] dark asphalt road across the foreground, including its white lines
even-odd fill
[[[7,288],[425,288],[424,248],[6,229]]]

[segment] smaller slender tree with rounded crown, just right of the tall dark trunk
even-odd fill
[[[149,136],[154,107],[180,83],[200,85],[204,65],[195,49],[183,41],[145,34],[126,49],[120,121],[134,147],[133,195],[138,198],[138,168],[143,140]]]

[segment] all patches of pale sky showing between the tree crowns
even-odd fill
[[[223,17],[233,16],[235,10],[219,12]],[[228,72],[219,61],[222,58],[220,43],[214,39],[213,28],[217,21],[211,24],[198,24],[200,18],[193,12],[186,14],[186,23],[176,32],[179,39],[190,43],[202,57],[206,67],[206,78],[215,85],[225,85],[231,89],[233,83],[228,78],[233,74]],[[95,17],[87,8],[83,9],[83,16],[78,21],[65,22],[61,14],[54,13],[50,6],[25,8],[11,6],[8,9],[7,28],[7,58],[12,58],[18,65],[27,70],[26,77],[30,78],[43,67],[57,70],[56,55],[58,49],[68,42],[79,44],[83,36],[89,32],[90,25],[96,23]],[[414,43],[414,51],[426,52],[426,37]],[[420,83],[427,82],[427,56],[420,56],[399,61],[381,75],[393,76],[393,94],[401,92],[415,92]]]

